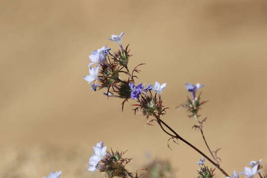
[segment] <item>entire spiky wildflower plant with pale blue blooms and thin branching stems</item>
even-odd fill
[[[143,84],[142,82],[140,83],[136,81],[138,79],[137,75],[140,72],[139,68],[141,65],[144,65],[144,63],[141,63],[130,70],[129,64],[131,64],[132,54],[130,54],[130,45],[126,45],[126,47],[123,46],[123,37],[124,33],[121,33],[119,36],[112,35],[109,39],[110,41],[118,43],[118,50],[111,51],[111,49],[105,45],[102,48],[92,51],[89,55],[91,62],[88,65],[89,75],[85,76],[84,79],[91,84],[91,90],[97,91],[103,89],[103,93],[107,96],[107,98],[121,98],[123,100],[122,110],[124,109],[126,101],[130,99],[134,100],[135,103],[132,104],[132,106],[134,106],[134,114],[142,113],[146,119],[147,125],[157,123],[161,130],[170,136],[167,140],[167,146],[169,148],[169,141],[172,140],[175,143],[182,141],[197,151],[202,156],[200,161],[197,162],[197,165],[200,166],[199,171],[197,171],[198,178],[213,178],[215,176],[215,170],[222,172],[226,178],[239,178],[236,171],[234,171],[233,175],[230,177],[221,167],[222,160],[218,157],[218,151],[221,149],[212,150],[208,144],[206,136],[204,135],[203,124],[207,120],[207,117],[202,119],[199,112],[207,101],[202,100],[201,92],[198,94],[198,90],[203,88],[205,85],[201,85],[199,83],[196,85],[186,83],[186,90],[191,96],[187,97],[186,101],[178,107],[185,108],[185,110],[189,113],[188,117],[194,118],[196,123],[192,128],[200,131],[210,156],[181,137],[180,134],[178,134],[162,119],[162,116],[165,115],[167,109],[169,109],[169,107],[165,107],[163,104],[163,91],[166,89],[167,85],[166,83],[160,85],[159,82],[155,82],[154,85]],[[100,172],[104,172],[107,178],[138,178],[142,176],[137,175],[137,171],[134,174],[126,169],[126,165],[130,163],[132,159],[124,158],[125,152],[117,150],[114,151],[112,149],[107,151],[107,147],[103,145],[103,142],[97,143],[96,147],[93,147],[93,149],[94,153],[89,158],[89,171],[99,170]],[[206,166],[205,160],[210,162],[213,167],[209,168]],[[257,162],[252,161],[250,163],[252,169],[246,167],[245,171],[239,174],[244,175],[246,178],[253,178],[255,175],[258,175],[260,178],[266,178],[261,175],[261,169],[263,168],[261,162],[262,160]],[[161,178],[163,175],[159,177]]]

